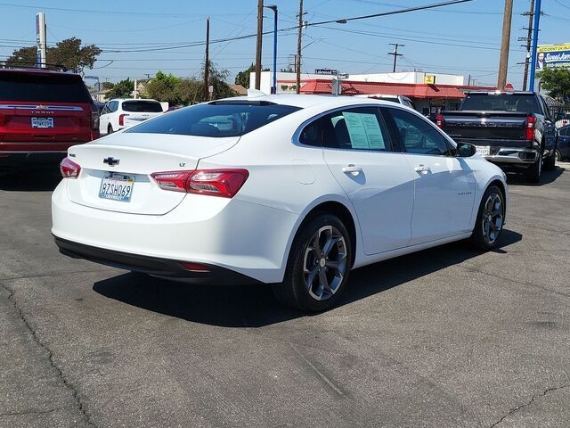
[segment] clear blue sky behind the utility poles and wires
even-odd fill
[[[305,0],[305,20],[327,21],[403,7],[437,3],[441,0]],[[265,0],[277,4],[279,28],[296,25],[297,0]],[[522,81],[525,51],[518,37],[525,37],[528,18],[520,13],[529,8],[528,0],[515,0],[509,55],[509,82]],[[48,44],[68,37],[79,37],[85,44],[103,49],[97,70],[87,74],[117,81],[144,78],[157,70],[177,76],[199,73],[203,46],[147,52],[205,40],[206,18],[210,17],[211,39],[239,37],[256,32],[256,0],[0,0],[0,58],[21,46],[34,45],[35,14],[44,11]],[[503,0],[473,0],[439,10],[329,24],[305,30],[303,71],[315,68],[338,69],[346,73],[387,72],[392,70],[389,43],[404,44],[398,70],[414,68],[450,72],[476,78],[477,83],[496,83],[501,44]],[[69,10],[63,10],[69,9]],[[72,10],[71,10],[72,9]],[[540,43],[570,42],[570,0],[542,0]],[[273,12],[266,10],[265,30],[273,29]],[[263,62],[272,64],[273,36],[264,38]],[[323,37],[323,38],[322,38]],[[279,34],[278,68],[293,60],[297,48],[296,30]],[[123,52],[113,52],[123,51]],[[232,77],[255,59],[255,38],[212,45],[210,55],[219,69]],[[112,63],[111,61],[112,60]]]

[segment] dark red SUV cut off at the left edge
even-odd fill
[[[57,165],[69,146],[99,138],[83,79],[50,70],[0,70],[0,169]]]

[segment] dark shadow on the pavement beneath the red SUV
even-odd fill
[[[0,190],[6,192],[53,192],[60,181],[61,174],[57,166],[20,169],[5,174],[0,171]]]

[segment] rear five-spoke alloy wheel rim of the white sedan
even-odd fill
[[[322,226],[309,240],[303,259],[305,287],[314,300],[338,291],[347,268],[346,242],[335,226]]]

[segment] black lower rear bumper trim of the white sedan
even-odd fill
[[[74,259],[86,259],[110,266],[141,272],[152,276],[183,280],[192,284],[253,284],[256,279],[241,275],[230,269],[214,265],[201,264],[205,269],[189,270],[183,267],[181,260],[159,259],[156,257],[129,254],[121,251],[106,250],[82,243],[74,243],[54,236],[61,254]]]

